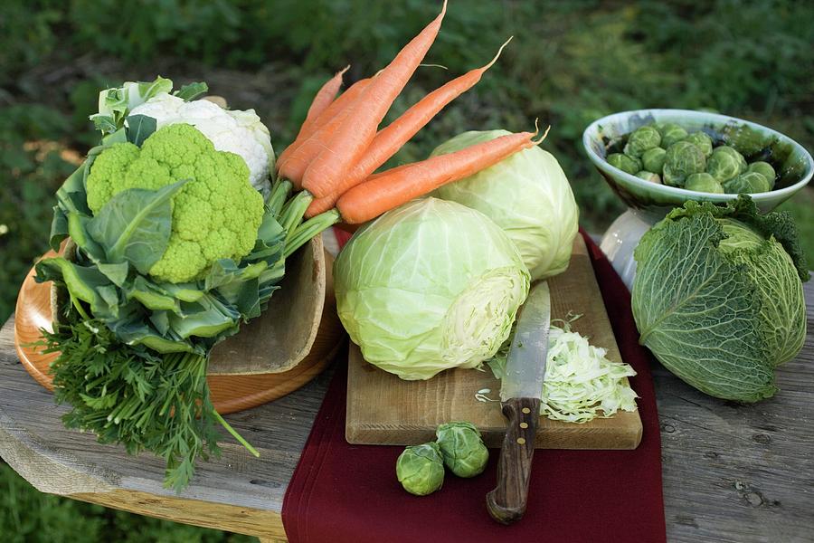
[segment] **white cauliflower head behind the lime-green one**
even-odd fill
[[[215,149],[239,155],[249,167],[251,186],[269,195],[274,149],[269,129],[254,110],[223,110],[208,100],[186,101],[161,92],[130,110],[129,115],[152,117],[159,129],[177,123],[193,125],[212,141]]]

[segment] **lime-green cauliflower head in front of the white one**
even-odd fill
[[[142,148],[118,143],[105,149],[86,180],[88,206],[96,214],[128,188],[156,190],[189,182],[173,197],[173,226],[166,252],[150,269],[158,281],[204,277],[213,262],[251,252],[263,216],[263,198],[249,183],[249,168],[233,153],[188,124],[158,129]]]

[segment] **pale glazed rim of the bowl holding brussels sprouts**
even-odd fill
[[[783,188],[777,190],[771,190],[769,192],[763,193],[754,193],[750,194],[749,196],[752,197],[752,200],[755,202],[761,201],[768,201],[773,200],[776,198],[781,198],[785,200],[786,198],[790,197],[794,193],[800,190],[800,188],[809,184],[811,180],[811,176],[814,176],[814,158],[811,157],[809,151],[802,147],[800,143],[796,140],[786,136],[785,134],[778,132],[775,129],[770,129],[769,127],[763,126],[762,124],[758,124],[756,122],[752,122],[751,120],[746,119],[739,119],[737,117],[731,117],[729,115],[722,115],[721,113],[713,113],[708,111],[698,111],[698,110],[673,110],[673,109],[666,109],[666,108],[649,108],[646,110],[629,110],[629,111],[619,111],[617,113],[611,113],[611,115],[605,115],[601,119],[594,120],[588,127],[582,132],[582,148],[585,149],[585,152],[588,154],[588,157],[591,159],[593,164],[596,167],[601,169],[610,169],[609,173],[614,174],[614,176],[618,176],[621,179],[624,179],[626,183],[639,186],[644,189],[649,190],[656,190],[661,192],[665,195],[675,195],[682,199],[693,198],[693,197],[703,197],[708,201],[714,202],[727,202],[730,200],[734,200],[737,198],[737,194],[731,193],[724,193],[724,194],[715,194],[715,193],[705,193],[699,192],[696,190],[687,190],[686,188],[680,188],[677,186],[668,186],[668,185],[656,185],[649,181],[645,181],[644,179],[629,174],[625,171],[620,170],[618,167],[611,166],[607,160],[600,157],[596,152],[594,152],[591,142],[595,141],[596,138],[593,138],[593,134],[597,134],[599,132],[598,127],[602,123],[607,123],[610,119],[619,118],[619,117],[631,117],[633,115],[647,115],[653,113],[668,113],[673,115],[681,115],[686,118],[696,118],[696,119],[705,119],[705,120],[712,120],[714,122],[720,122],[721,124],[725,124],[727,122],[737,122],[742,123],[746,126],[749,126],[752,129],[759,129],[763,132],[769,132],[779,138],[781,140],[789,142],[792,147],[798,148],[801,151],[802,157],[807,162],[807,167],[805,170],[805,174],[802,176],[800,181],[795,183],[794,185],[785,186]]]

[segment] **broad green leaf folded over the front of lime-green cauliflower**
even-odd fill
[[[108,262],[128,261],[147,274],[166,251],[172,230],[170,199],[185,181],[159,190],[130,188],[110,198],[88,223]]]

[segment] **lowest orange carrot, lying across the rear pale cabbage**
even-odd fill
[[[548,130],[535,140],[536,134],[508,134],[448,155],[388,170],[348,190],[336,202],[336,209],[345,223],[364,223],[439,186],[471,176],[517,151],[538,145]]]

